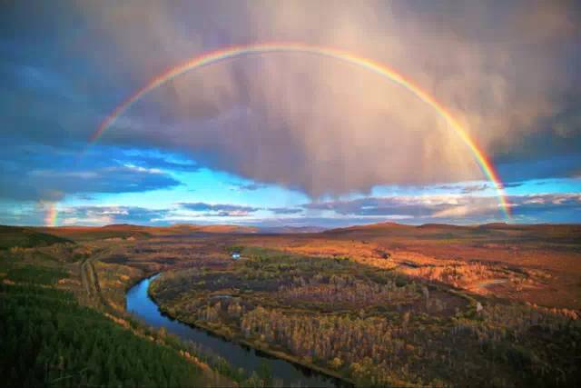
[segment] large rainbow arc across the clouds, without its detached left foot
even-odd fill
[[[497,172],[494,166],[487,160],[486,154],[478,148],[478,145],[470,137],[467,131],[458,124],[458,121],[454,119],[452,114],[438,103],[438,101],[428,95],[426,92],[421,90],[419,86],[414,85],[409,79],[400,75],[393,69],[390,69],[386,65],[379,64],[378,62],[372,61],[369,58],[362,56],[357,56],[350,54],[346,51],[323,47],[318,45],[305,45],[297,43],[266,43],[266,44],[255,44],[255,45],[236,45],[231,46],[222,50],[212,51],[210,53],[205,53],[199,56],[195,56],[187,62],[172,67],[161,75],[155,76],[141,89],[137,90],[133,95],[119,104],[111,114],[109,114],[103,122],[99,125],[97,130],[91,136],[91,143],[99,139],[99,137],[115,122],[115,120],[123,114],[129,107],[135,104],[139,99],[151,92],[153,89],[165,84],[166,82],[172,80],[178,75],[182,75],[186,72],[198,69],[203,66],[213,65],[220,61],[231,59],[236,56],[242,55],[264,55],[269,53],[303,53],[310,55],[321,55],[330,58],[335,58],[343,62],[347,62],[351,65],[358,65],[372,71],[378,75],[383,75],[392,82],[401,85],[409,90],[409,92],[416,95],[421,101],[430,105],[432,108],[438,112],[438,114],[446,120],[448,125],[460,136],[460,139],[464,144],[468,145],[468,149],[474,155],[478,165],[480,166],[482,172],[487,176],[487,179],[494,184],[497,191],[498,201],[502,211],[510,219],[510,206],[507,203],[507,196],[504,191],[504,187],[500,179],[498,178]]]

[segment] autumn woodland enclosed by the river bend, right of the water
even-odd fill
[[[356,263],[247,247],[222,268],[170,271],[170,315],[362,386],[567,386],[581,324],[556,309],[462,293]]]

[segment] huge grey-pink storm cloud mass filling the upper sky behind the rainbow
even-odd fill
[[[124,171],[113,163],[121,157],[113,146],[182,154],[313,196],[482,177],[458,136],[409,93],[308,56],[248,58],[184,75],[126,112],[100,139],[101,158],[81,169],[53,157],[74,160],[103,117],[162,70],[225,45],[271,40],[337,46],[402,71],[468,127],[508,184],[578,174],[575,2],[0,6],[0,190],[11,198],[177,184],[169,175]],[[193,168],[139,155],[123,164]],[[85,174],[80,184],[88,172],[99,177]],[[111,183],[97,182],[105,179]],[[383,206],[367,211],[387,213]]]

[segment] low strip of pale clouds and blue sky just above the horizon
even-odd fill
[[[512,213],[521,223],[577,223],[581,194],[510,196]],[[187,206],[191,205],[191,206]],[[189,210],[191,207],[192,210]],[[305,204],[307,214],[297,217],[253,217],[250,206],[186,204],[180,208],[150,209],[139,206],[58,205],[59,224],[209,224],[223,218],[228,224],[259,226],[326,226],[373,224],[385,221],[405,224],[485,224],[502,221],[497,198],[457,195],[372,197],[351,201]],[[222,210],[218,210],[222,209]],[[224,210],[225,209],[225,210]],[[255,209],[255,208],[251,208]],[[258,210],[258,209],[256,209]],[[2,224],[44,224],[42,204],[0,204]]]

